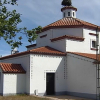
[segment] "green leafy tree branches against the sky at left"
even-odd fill
[[[22,34],[26,35],[28,42],[32,43],[37,38],[37,31],[41,31],[41,26],[28,30],[26,27],[18,28],[22,22],[21,14],[16,10],[8,11],[7,5],[17,5],[16,0],[0,0],[0,39],[3,38],[12,49],[22,45]],[[20,33],[20,36],[17,35]]]

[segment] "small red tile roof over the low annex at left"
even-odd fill
[[[26,73],[21,64],[0,63],[3,73]]]

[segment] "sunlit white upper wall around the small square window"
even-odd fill
[[[82,42],[66,39],[66,51],[96,54],[96,50],[91,50],[91,39],[96,40],[96,36],[89,33],[96,34],[96,31],[84,29]]]

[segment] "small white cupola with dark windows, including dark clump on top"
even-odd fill
[[[61,8],[61,11],[63,13],[63,18],[65,17],[76,18],[77,8],[72,6],[71,0],[63,0],[62,5],[64,6],[63,8]]]

